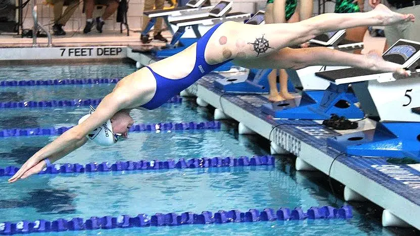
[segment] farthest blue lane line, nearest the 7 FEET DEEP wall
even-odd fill
[[[87,79],[40,79],[40,80],[5,80],[0,81],[0,87],[10,86],[48,86],[48,85],[82,85],[82,84],[113,84],[122,78],[87,78]]]

